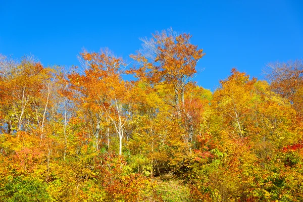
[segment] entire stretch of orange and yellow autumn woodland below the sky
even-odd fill
[[[0,55],[0,201],[303,201],[303,62],[211,92],[190,38],[156,32],[131,65]]]

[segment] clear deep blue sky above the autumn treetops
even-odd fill
[[[228,2],[228,3],[227,3]],[[0,53],[35,55],[43,65],[79,65],[86,48],[109,47],[130,62],[139,37],[172,27],[206,56],[195,78],[214,90],[233,67],[262,79],[275,61],[303,58],[303,1],[0,0]]]

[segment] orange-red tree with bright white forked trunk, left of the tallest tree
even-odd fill
[[[85,66],[84,75],[72,73],[69,79],[73,88],[79,92],[77,102],[86,107],[84,113],[91,119],[88,127],[92,129],[96,149],[99,141],[102,141],[99,135],[103,130],[106,130],[109,145],[109,129],[113,125],[119,137],[121,155],[123,128],[130,116],[128,109],[131,106],[127,103],[130,85],[121,76],[125,64],[108,50],[101,53],[84,52],[81,57]],[[103,127],[102,121],[106,123]]]

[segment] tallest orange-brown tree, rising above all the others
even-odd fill
[[[156,32],[153,38],[142,39],[142,50],[131,56],[139,63],[131,69],[137,78],[155,89],[158,85],[171,89],[173,97],[163,99],[183,120],[187,131],[185,142],[191,142],[193,136],[192,117],[185,108],[185,93],[197,72],[197,62],[205,55],[203,49],[190,43],[190,38],[190,34],[178,34],[172,29]]]

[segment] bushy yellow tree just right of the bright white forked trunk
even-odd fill
[[[185,131],[162,99],[166,93],[170,92],[165,86],[158,85],[155,91],[142,81],[135,82],[131,90],[131,138],[127,144],[135,172],[153,176],[154,171],[172,171],[186,154],[187,145],[180,135]]]

